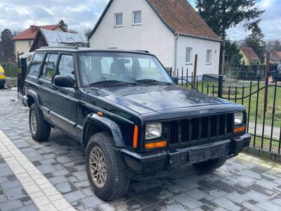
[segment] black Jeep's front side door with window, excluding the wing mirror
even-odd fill
[[[61,53],[55,75],[69,75],[76,81],[74,55]],[[56,87],[51,93],[51,120],[67,134],[77,137],[77,89]]]

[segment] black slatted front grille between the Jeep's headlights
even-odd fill
[[[192,143],[230,136],[233,132],[233,122],[233,113],[171,120],[168,122],[168,141],[170,144]]]

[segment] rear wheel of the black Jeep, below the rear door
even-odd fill
[[[32,139],[38,142],[47,141],[51,133],[51,124],[41,117],[35,103],[30,107],[30,133]]]

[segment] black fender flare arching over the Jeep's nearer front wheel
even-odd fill
[[[108,119],[107,117],[100,117],[96,114],[90,114],[84,120],[82,141],[85,147],[87,146],[86,141],[89,141],[86,140],[86,138],[89,130],[89,125],[91,124],[95,124],[96,126],[101,127],[106,132],[108,132],[110,136],[112,136],[116,148],[125,147],[124,139],[118,124]]]

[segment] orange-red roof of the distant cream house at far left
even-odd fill
[[[41,26],[31,25],[27,30],[23,31],[21,34],[16,35],[12,39],[13,40],[34,39],[39,28],[44,30],[55,30],[58,27],[60,27],[60,25],[41,25]]]

